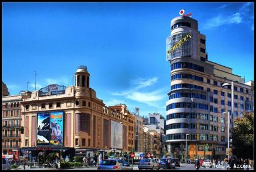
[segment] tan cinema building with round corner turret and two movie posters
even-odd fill
[[[86,66],[79,66],[75,86],[51,84],[21,102],[21,153],[73,156],[126,156],[135,147],[135,116],[126,105],[106,107],[90,88]]]

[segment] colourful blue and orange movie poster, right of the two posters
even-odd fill
[[[63,111],[50,113],[50,145],[63,145],[63,114]]]

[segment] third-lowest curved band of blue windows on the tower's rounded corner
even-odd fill
[[[201,113],[174,113],[166,115],[166,120],[170,119],[202,119],[208,120],[208,114],[201,114]]]

